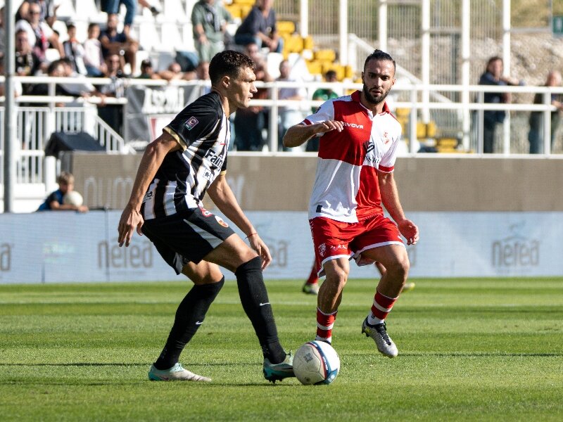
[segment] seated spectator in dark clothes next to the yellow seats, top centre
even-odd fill
[[[256,0],[256,4],[234,34],[236,44],[246,46],[252,42],[258,45],[258,48],[267,47],[276,53],[283,51],[283,39],[277,32],[273,3],[274,0]]]

